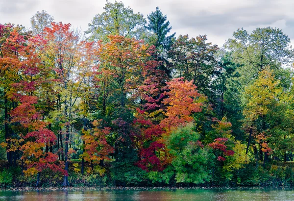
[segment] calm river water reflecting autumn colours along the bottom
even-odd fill
[[[2,201],[294,201],[292,188],[0,191]]]

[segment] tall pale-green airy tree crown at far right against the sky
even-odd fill
[[[293,61],[290,39],[278,28],[256,28],[250,34],[242,28],[234,32],[233,37],[226,47],[232,51],[234,62],[243,64],[238,69],[242,84],[247,85],[266,66],[278,70]]]

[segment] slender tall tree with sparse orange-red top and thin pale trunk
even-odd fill
[[[59,102],[58,112],[62,113],[65,126],[65,170],[69,168],[69,150],[71,122],[73,121],[73,109],[78,98],[82,97],[85,78],[91,72],[91,54],[94,43],[80,41],[77,33],[70,31],[70,24],[52,23],[46,27],[43,35],[35,39],[40,50],[42,59],[54,74],[53,86],[56,99]],[[90,60],[89,60],[90,59]],[[52,116],[56,114],[52,113]],[[62,142],[62,139],[61,139]],[[63,185],[68,186],[68,176],[64,176]]]

